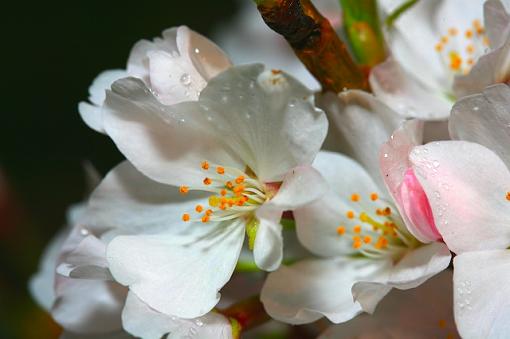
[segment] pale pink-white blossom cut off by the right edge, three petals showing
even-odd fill
[[[505,84],[466,97],[454,106],[449,126],[460,141],[411,153],[416,176],[433,197],[437,229],[457,254],[455,320],[468,339],[504,338],[509,331],[509,104]]]

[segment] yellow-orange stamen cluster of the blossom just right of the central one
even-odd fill
[[[398,213],[389,204],[381,204],[377,193],[362,197],[353,193],[350,197],[356,207],[346,212],[347,225],[337,227],[341,237],[352,238],[352,248],[359,254],[379,259],[400,259],[409,248],[418,245],[416,239],[403,226]],[[382,207],[381,207],[382,206]]]

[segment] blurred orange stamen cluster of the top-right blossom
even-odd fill
[[[464,31],[452,27],[435,45],[441,61],[452,75],[468,74],[489,47],[489,38],[480,20],[474,20]]]

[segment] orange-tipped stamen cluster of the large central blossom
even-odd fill
[[[190,190],[201,190],[211,192],[213,195],[209,197],[207,205],[195,206],[195,216],[184,213],[183,221],[205,223],[239,218],[254,211],[270,198],[265,186],[257,180],[249,168],[241,171],[233,167],[210,164],[207,161],[203,161],[200,166],[208,174],[204,177],[202,185],[181,186],[179,190],[182,194]]]

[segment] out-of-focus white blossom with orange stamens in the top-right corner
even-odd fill
[[[482,13],[483,2],[419,1],[404,12],[387,34],[392,57],[371,73],[374,93],[403,116],[437,120],[456,97],[506,81],[508,14],[499,0]],[[391,13],[401,3],[381,6]]]

